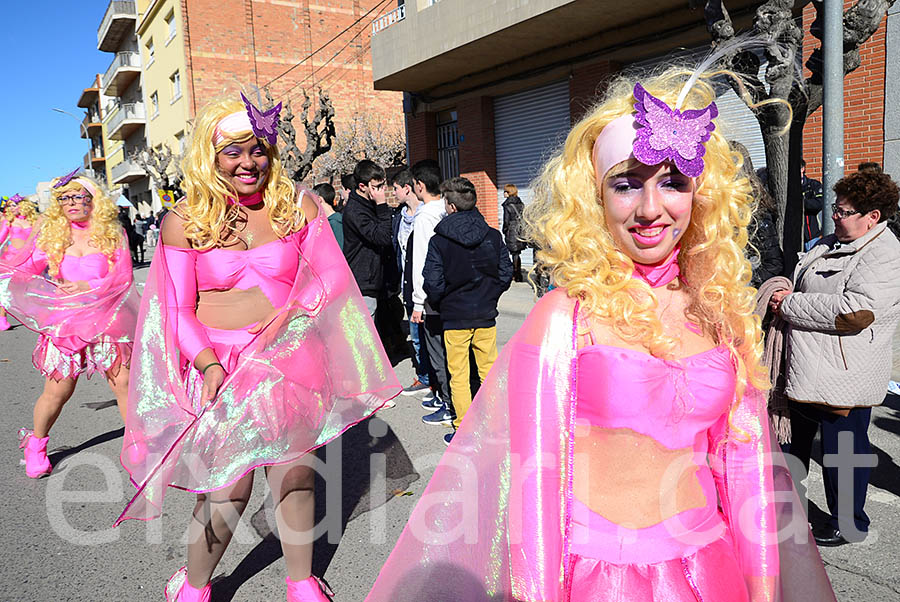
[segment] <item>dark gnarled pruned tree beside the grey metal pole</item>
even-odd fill
[[[857,0],[844,11],[844,75],[859,67],[860,47],[878,29],[894,1]],[[690,4],[692,8],[703,5],[706,26],[714,45],[734,38],[734,26],[724,0],[693,0]],[[806,62],[810,75],[805,78],[797,77],[804,32],[794,20],[794,4],[793,0],[768,0],[756,10],[754,30],[769,43],[765,51],[768,64],[764,75],[768,92],[757,76],[760,60],[753,52],[738,50],[730,57],[731,69],[750,83],[748,92],[753,104],[780,99],[786,101],[793,112],[790,131],[787,135],[782,135],[781,131],[788,121],[788,111],[784,104],[765,104],[754,109],[766,150],[769,190],[778,204],[785,254],[786,257],[791,257],[791,261],[786,262],[786,267],[793,266],[792,256],[802,245],[800,160],[803,154],[803,127],[807,119],[822,106],[824,69],[820,45]],[[810,27],[810,33],[821,42],[824,29],[823,3],[814,1],[813,6],[816,8],[816,18]]]

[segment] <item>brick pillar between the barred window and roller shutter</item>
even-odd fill
[[[478,193],[478,210],[488,224],[498,224],[497,150],[494,142],[494,99],[468,98],[457,107],[459,175],[469,178]]]

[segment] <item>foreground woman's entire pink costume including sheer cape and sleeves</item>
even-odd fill
[[[770,449],[765,396],[748,389],[736,401],[727,348],[678,361],[579,350],[577,316],[564,290],[529,314],[367,600],[834,600],[790,473]],[[704,502],[641,528],[592,512],[574,495],[576,425],[624,434],[622,445],[652,441],[663,456],[686,449],[676,476],[693,475]],[[652,471],[656,460],[638,456],[618,472]],[[590,472],[599,491],[653,506],[604,487],[610,472]]]

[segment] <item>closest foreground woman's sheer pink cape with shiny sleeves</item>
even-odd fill
[[[573,583],[569,549],[576,311],[564,291],[552,291],[503,349],[368,601],[587,599]],[[731,425],[723,416],[709,439],[720,511],[750,599],[834,600],[784,458],[770,446],[764,395],[748,391]],[[621,568],[629,566],[652,570]],[[675,566],[671,576],[683,587],[683,564]],[[702,582],[717,566],[693,570]],[[603,599],[653,599],[619,591],[624,583],[610,579]]]

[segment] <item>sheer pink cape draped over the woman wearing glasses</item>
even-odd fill
[[[25,246],[0,260],[0,306],[26,327],[48,336],[60,350],[74,354],[89,344],[131,343],[140,295],[134,286],[131,254],[122,246],[106,277],[88,291],[67,295],[44,273],[35,241],[36,226]],[[127,362],[126,362],[127,363]]]

